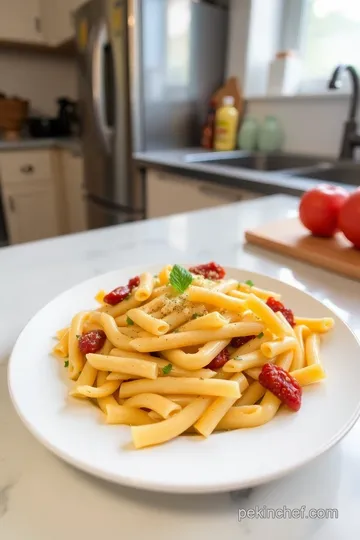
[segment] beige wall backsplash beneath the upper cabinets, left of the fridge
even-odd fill
[[[57,97],[76,99],[75,59],[2,49],[0,92],[30,100],[36,114],[56,114]]]

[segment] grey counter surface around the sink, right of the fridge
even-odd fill
[[[305,191],[319,184],[319,180],[290,176],[278,171],[256,171],[241,167],[214,165],[209,162],[199,163],[185,160],[185,157],[189,154],[208,152],[208,150],[201,148],[136,152],[133,154],[133,159],[135,165],[140,169],[164,170],[190,178],[248,189],[265,195],[281,193],[299,197]],[[341,185],[348,191],[354,190],[354,186],[347,184],[337,185]]]

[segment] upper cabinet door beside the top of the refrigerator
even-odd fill
[[[40,0],[46,43],[57,46],[74,37],[73,13],[85,0]]]

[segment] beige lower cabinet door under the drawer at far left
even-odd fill
[[[5,219],[11,244],[59,234],[55,190],[46,182],[3,186]]]

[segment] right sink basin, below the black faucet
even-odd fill
[[[316,169],[296,171],[291,176],[303,176],[306,178],[350,184],[360,186],[360,163],[341,163],[333,165],[319,165]]]

